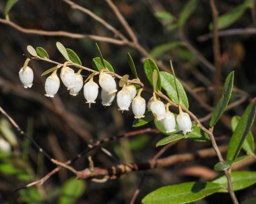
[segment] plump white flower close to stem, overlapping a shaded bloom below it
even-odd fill
[[[113,94],[117,92],[117,83],[111,75],[101,72],[99,78],[100,87],[107,94]]]

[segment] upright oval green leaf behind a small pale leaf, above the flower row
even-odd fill
[[[152,86],[153,86],[152,75],[153,75],[154,69],[156,69],[156,71],[158,73],[158,80],[156,83],[156,91],[160,91],[161,90],[161,79],[160,79],[160,73],[159,73],[158,66],[152,59],[149,59],[149,58],[146,59],[146,61],[144,62],[144,71],[146,73],[148,81],[150,81]]]

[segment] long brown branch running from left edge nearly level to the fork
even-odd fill
[[[36,34],[40,36],[63,36],[67,38],[77,38],[77,39],[88,38],[91,40],[109,42],[112,44],[119,44],[119,45],[126,44],[124,40],[117,40],[115,38],[108,38],[104,36],[96,36],[91,34],[75,34],[72,32],[65,32],[65,31],[45,31],[45,30],[34,30],[34,29],[22,28],[21,26],[18,26],[17,24],[14,24],[13,22],[10,22],[2,18],[0,18],[0,23],[11,26],[12,28],[15,28],[15,30],[18,30],[26,34]]]

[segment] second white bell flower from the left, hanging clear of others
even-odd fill
[[[46,94],[44,96],[53,98],[59,90],[60,83],[57,72],[54,71],[45,81],[44,90]]]

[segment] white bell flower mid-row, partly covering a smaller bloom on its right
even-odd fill
[[[123,86],[122,90],[117,93],[117,105],[122,112],[123,110],[129,110],[129,106],[131,105],[131,95],[126,90],[125,86]]]

